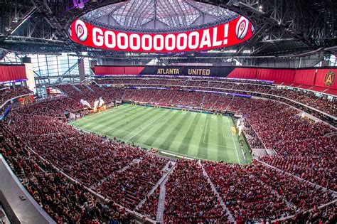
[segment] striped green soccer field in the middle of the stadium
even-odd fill
[[[71,123],[79,129],[190,158],[245,164],[229,116],[121,105]],[[241,137],[243,139],[243,137]],[[252,160],[245,141],[247,162]]]

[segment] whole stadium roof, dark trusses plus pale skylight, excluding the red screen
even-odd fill
[[[107,25],[124,28],[139,24],[143,28],[146,24],[152,28],[191,28],[198,25],[200,14],[207,22],[221,18],[228,10],[253,23],[255,35],[249,41],[219,49],[216,55],[208,52],[211,57],[297,57],[337,51],[337,1],[332,0],[0,0],[0,4],[0,58],[9,51],[87,51],[97,57],[125,57],[127,53],[92,50],[69,40],[70,23],[89,12],[92,19],[98,18],[97,23],[109,15],[113,23]],[[205,53],[186,53],[198,55]]]

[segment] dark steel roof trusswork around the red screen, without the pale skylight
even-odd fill
[[[0,48],[2,49],[0,58],[9,51],[21,53],[91,51],[90,48],[69,41],[68,27],[70,23],[87,12],[117,3],[111,12],[111,17],[115,11],[122,10],[122,7],[119,6],[124,4],[124,1],[126,0],[84,0],[85,7],[80,9],[74,6],[73,0],[0,0]],[[156,4],[163,4],[163,2],[156,1]],[[187,1],[184,2],[187,3]],[[239,46],[223,49],[223,56],[245,56],[245,50],[250,50],[251,56],[296,57],[316,53],[336,54],[337,1],[198,0],[192,4],[193,9],[198,9],[199,2],[235,11],[237,14],[249,18],[255,25],[255,35],[249,41]],[[183,13],[182,6],[175,7],[176,14]],[[166,8],[161,6],[161,9]],[[146,9],[144,8],[144,10]],[[198,9],[198,11],[202,10]],[[159,26],[160,23],[165,23],[159,21],[158,14],[160,13],[164,15],[164,12],[154,12],[153,21],[146,20],[144,17],[139,20],[128,18],[128,15],[125,14],[124,19],[127,20],[124,21],[130,24],[151,22]],[[213,12],[213,14],[215,13]],[[205,12],[201,16],[204,14]],[[152,15],[151,12],[149,15]],[[102,16],[102,14],[96,16]],[[176,25],[182,28],[187,27],[193,19],[193,16],[186,17],[184,20],[178,18],[179,24],[176,21]],[[117,17],[114,20],[118,22]],[[166,21],[166,23],[173,22]],[[226,53],[227,50],[235,50],[235,53]],[[90,53],[90,55],[97,54],[109,57],[122,55],[125,57],[127,55],[127,53],[120,52]],[[198,53],[186,53],[185,55],[196,56]],[[222,55],[218,54],[218,56]],[[155,56],[151,55],[151,57]]]

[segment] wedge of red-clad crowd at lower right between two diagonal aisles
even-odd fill
[[[333,194],[261,164],[203,161],[237,223],[270,221],[333,201]]]

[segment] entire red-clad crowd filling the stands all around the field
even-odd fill
[[[198,86],[206,83],[178,82]],[[149,197],[147,194],[159,181],[167,164],[166,159],[139,147],[80,132],[61,122],[58,117],[65,111],[83,110],[80,99],[93,103],[98,97],[104,97],[107,101],[134,100],[242,114],[250,124],[245,129],[250,144],[255,148],[262,148],[264,144],[278,154],[264,157],[262,161],[336,191],[336,151],[331,151],[336,147],[336,136],[331,135],[336,129],[323,122],[310,123],[299,117],[297,110],[281,102],[179,90],[102,88],[96,85],[58,87],[68,96],[35,102],[9,114],[6,124],[0,128],[0,153],[28,192],[60,223],[78,220],[100,223],[124,213],[114,203],[134,210],[144,199],[146,202],[139,212],[154,218],[159,190]],[[239,88],[247,90],[247,87]],[[27,146],[48,162],[29,151]],[[78,183],[65,178],[49,163]],[[293,214],[298,220],[319,215],[324,220],[336,219],[333,209],[331,212],[327,208],[326,213],[316,209],[316,206],[333,200],[329,191],[322,191],[282,171],[255,164],[241,166],[210,161],[204,161],[203,166],[238,223]],[[84,186],[111,202],[102,203]],[[311,208],[314,210],[306,213]],[[169,176],[164,214],[165,221],[173,223],[214,223],[225,222],[228,218],[196,161],[179,161]]]

